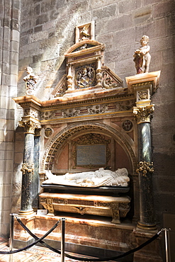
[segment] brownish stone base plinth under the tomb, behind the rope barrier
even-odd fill
[[[147,241],[156,232],[145,232],[136,230],[135,224],[122,222],[121,224],[111,224],[110,217],[96,217],[77,215],[72,217],[66,213],[60,213],[59,216],[50,217],[47,215],[35,215],[33,220],[22,218],[23,222],[30,227],[30,230],[38,237],[43,235],[53,227],[53,225],[62,217],[65,222],[65,251],[71,251],[77,254],[88,256],[109,257],[125,253],[143,242]],[[21,225],[15,223],[14,229],[14,247],[27,246],[32,241]],[[33,227],[33,229],[32,229]],[[21,231],[21,232],[20,232]],[[45,239],[47,244],[60,249],[61,241],[61,223]],[[152,261],[162,262],[159,254],[159,239],[154,240],[144,249],[135,252],[130,256],[123,258],[123,261],[140,262]]]

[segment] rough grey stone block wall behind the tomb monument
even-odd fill
[[[133,52],[149,35],[149,72],[162,70],[152,120],[154,205],[175,213],[174,201],[174,1],[173,0],[27,0],[21,1],[18,96],[25,95],[26,66],[39,76],[35,96],[49,98],[64,74],[64,52],[74,44],[76,25],[95,21],[96,40],[106,44],[105,64],[125,80],[136,73]]]

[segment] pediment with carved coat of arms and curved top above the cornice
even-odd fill
[[[91,95],[123,89],[123,81],[104,66],[105,45],[95,40],[77,42],[64,55],[67,74],[62,76],[50,98]]]

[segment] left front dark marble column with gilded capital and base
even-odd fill
[[[38,128],[38,125],[32,120],[20,121],[19,125],[25,128],[25,147],[21,169],[23,172],[21,210],[19,215],[31,215],[33,214],[34,135],[35,128]]]

